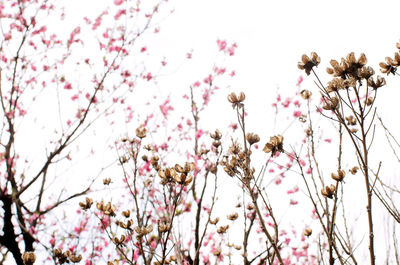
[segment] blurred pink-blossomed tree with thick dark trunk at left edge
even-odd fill
[[[71,176],[60,168],[96,152],[85,144],[96,123],[112,128],[118,110],[132,114],[127,98],[155,78],[138,44],[170,12],[166,1],[115,0],[77,20],[63,4],[0,1],[0,245],[2,260],[11,254],[16,264],[50,247],[53,211],[91,191],[96,176],[78,173],[89,181],[64,187]]]

